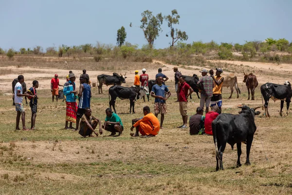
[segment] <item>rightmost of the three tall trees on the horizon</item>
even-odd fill
[[[172,38],[172,43],[171,43],[171,47],[173,47],[174,43],[176,43],[176,41],[178,41],[179,39],[181,41],[183,40],[187,40],[188,36],[186,35],[185,31],[181,31],[179,29],[174,29],[173,25],[174,24],[179,24],[179,19],[180,19],[180,15],[178,14],[178,11],[176,9],[171,11],[171,16],[164,16],[164,19],[167,21],[167,25],[170,28],[170,37]],[[166,34],[166,37],[168,37],[168,34]]]

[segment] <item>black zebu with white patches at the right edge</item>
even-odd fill
[[[280,99],[281,100],[281,110],[280,116],[282,117],[282,109],[284,107],[284,101],[287,103],[287,115],[288,109],[291,102],[292,97],[292,89],[289,81],[285,81],[284,85],[278,85],[274,83],[265,83],[260,87],[260,92],[262,95],[262,103],[265,107],[265,115],[270,117],[269,114],[269,99],[273,99],[274,101]],[[263,102],[263,98],[265,100],[265,104]]]

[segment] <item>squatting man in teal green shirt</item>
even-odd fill
[[[106,131],[110,131],[110,136],[116,135],[116,132],[118,132],[120,136],[124,130],[121,118],[117,114],[113,113],[111,108],[106,109],[106,115],[107,117],[105,124],[102,125],[102,128],[104,128]]]

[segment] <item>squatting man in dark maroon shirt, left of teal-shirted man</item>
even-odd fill
[[[90,108],[85,108],[85,114],[81,117],[81,122],[79,125],[80,130],[78,133],[83,137],[86,137],[86,136],[93,137],[92,133],[98,136],[98,133],[94,131],[97,126],[97,123],[99,124],[99,133],[100,135],[102,135],[100,120],[96,117],[91,116]]]

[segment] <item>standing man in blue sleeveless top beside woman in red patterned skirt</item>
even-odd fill
[[[90,99],[91,99],[91,87],[89,86],[86,81],[88,80],[88,77],[83,74],[80,75],[80,87],[79,87],[79,103],[78,103],[78,109],[76,114],[76,128],[75,131],[78,131],[79,128],[79,120],[84,115],[85,109],[90,108]]]

